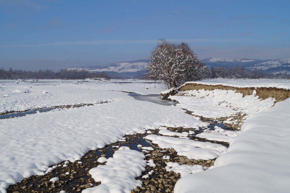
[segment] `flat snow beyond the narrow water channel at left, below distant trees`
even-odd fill
[[[28,82],[18,84],[8,83],[2,86],[0,94],[9,94],[9,97],[2,97],[0,100],[0,113],[11,111],[25,111],[36,108],[52,106],[94,104],[104,101],[117,100],[119,93],[109,90],[122,90],[127,92],[137,92],[139,94],[157,94],[162,90],[162,85],[152,84],[153,88],[144,89],[144,83],[122,83],[114,85],[111,82],[95,84],[94,82],[72,85],[70,83],[59,83],[58,87],[53,83],[45,85],[32,85],[29,93],[13,92],[31,85]],[[156,88],[155,88],[156,87]],[[46,92],[46,94],[44,93]],[[95,96],[98,97],[95,97]]]

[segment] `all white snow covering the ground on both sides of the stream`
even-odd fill
[[[180,104],[165,106],[135,100],[126,93],[159,94],[166,89],[162,84],[141,83],[146,82],[143,80],[133,83],[113,82],[120,81],[77,81],[76,84],[72,81],[59,80],[19,83],[0,81],[0,113],[93,104],[1,119],[0,193],[6,193],[8,185],[15,184],[23,178],[49,173],[52,170],[49,168],[50,165],[64,160],[69,160],[68,164],[79,161],[90,150],[122,141],[126,134],[146,133],[148,129],[160,130],[160,135],[150,135],[148,132],[146,139],[161,148],[175,149],[180,156],[204,160],[217,158],[214,166],[209,169],[200,165],[187,166],[168,162],[166,170],[182,174],[182,178],[175,186],[175,193],[193,190],[195,192],[290,190],[290,167],[287,165],[290,159],[289,99],[276,103],[272,108],[275,99],[261,101],[253,95],[243,98],[238,93],[215,90],[199,92],[196,97],[173,96]],[[194,83],[289,89],[289,82],[215,79]],[[188,94],[192,94],[190,92]],[[215,130],[205,129],[203,133],[198,134],[202,138],[229,142],[230,147],[226,148],[215,143],[190,140],[187,137],[190,132],[208,128],[209,123],[184,113],[182,108],[193,111],[196,116],[208,118],[230,117],[235,114],[247,116],[240,131],[231,132],[216,127]],[[235,121],[230,118],[228,123],[235,124]],[[167,127],[192,128],[192,131],[172,132],[167,130]],[[146,154],[146,150],[144,152]],[[144,158],[144,154],[140,152],[120,148],[114,153],[113,158],[98,160],[107,163],[89,170],[89,173],[97,181],[102,181],[102,185],[87,188],[83,192],[130,193],[137,186],[141,186],[142,181],[136,181],[135,178],[141,176],[145,166],[154,166],[152,161],[147,159],[144,161]],[[132,166],[134,162],[136,165]],[[132,170],[126,169],[128,165],[132,166]]]

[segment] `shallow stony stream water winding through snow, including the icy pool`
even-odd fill
[[[159,94],[149,94],[149,95],[141,95],[141,94],[136,94],[136,93],[129,93],[129,96],[133,97],[136,100],[141,100],[141,101],[149,101],[153,103],[157,103],[160,105],[176,105],[176,102],[172,101],[167,101],[161,99],[161,96]],[[76,107],[76,106],[74,106]],[[79,106],[78,106],[79,107]],[[45,112],[49,110],[54,110],[56,108],[45,108],[45,109],[39,109],[39,110],[30,110],[26,112],[15,112],[11,114],[6,114],[2,116],[8,116],[9,117],[16,117],[16,116],[24,116],[26,114],[33,114],[37,112]],[[0,116],[0,119],[1,117]],[[200,128],[199,130],[195,130],[195,134],[189,135],[189,139],[196,140],[195,135],[201,132],[204,132],[204,130],[213,130],[215,126],[222,127],[226,129],[227,127],[221,124],[221,121],[217,122],[212,122],[210,120],[207,120],[210,125],[209,127],[205,128]],[[184,128],[168,128],[168,130],[175,131],[177,129],[177,132],[182,132],[182,131],[188,131],[188,129]],[[151,130],[151,134],[157,134],[158,135],[158,130]],[[154,171],[153,174],[150,174],[150,177],[148,179],[143,179],[142,176],[137,177],[137,180],[142,180],[144,186],[146,187],[146,190],[142,190],[140,192],[145,192],[147,190],[150,190],[150,186],[157,186],[154,180],[156,182],[162,178],[162,175],[173,175],[172,172],[166,172],[165,170],[165,161],[162,159],[162,156],[169,156],[171,159],[174,159],[175,161],[179,161],[179,156],[177,155],[177,152],[171,152],[171,151],[166,151],[166,150],[156,150],[156,146],[152,144],[151,141],[146,141],[143,137],[146,136],[147,134],[134,134],[134,135],[129,135],[124,137],[122,140],[106,145],[105,148],[98,149],[98,150],[91,150],[88,153],[86,153],[82,158],[81,162],[76,162],[76,163],[69,163],[67,167],[61,167],[65,161],[60,163],[60,167],[56,167],[55,170],[53,170],[51,173],[48,173],[44,176],[32,176],[27,180],[23,180],[21,183],[17,183],[16,185],[10,185],[9,188],[7,189],[8,193],[13,193],[15,191],[18,192],[32,192],[32,190],[38,191],[38,192],[45,192],[45,193],[50,193],[50,192],[60,192],[60,190],[65,190],[66,192],[81,192],[81,190],[84,190],[86,187],[94,187],[99,185],[99,182],[95,182],[92,179],[92,176],[88,174],[88,171],[93,168],[97,167],[98,165],[104,165],[105,163],[99,163],[97,162],[98,158],[101,156],[104,156],[102,154],[105,154],[106,158],[110,158],[113,156],[114,151],[118,148],[116,146],[128,146],[131,148],[131,150],[137,150],[139,152],[146,152],[149,153],[147,154],[147,160],[151,159],[151,157],[158,153],[162,154],[159,158],[155,158],[154,163],[157,164],[157,167],[153,169],[152,167],[147,166],[146,171],[142,173],[142,176],[144,174],[148,174],[149,171]],[[199,141],[209,141],[206,139],[198,139]],[[223,143],[223,142],[217,142],[217,141],[211,141],[212,143],[219,143],[221,145],[224,145],[226,147],[229,147],[228,144]],[[142,146],[152,146],[155,150],[153,152],[149,152],[146,150],[142,150],[141,148],[137,147],[137,145],[142,145]],[[115,147],[114,147],[115,146]],[[158,152],[160,151],[160,152]],[[151,155],[154,153],[153,155]],[[175,159],[177,158],[177,159]],[[201,164],[202,162],[196,163],[196,164]],[[57,166],[56,164],[55,166]],[[51,166],[52,167],[52,166]],[[208,165],[209,167],[209,165]],[[71,174],[69,175],[64,175],[66,172],[69,172]],[[53,177],[59,177],[58,183],[50,183],[49,179]],[[173,191],[175,182],[180,178],[178,175],[173,175],[175,181],[171,181],[170,178],[166,179],[166,185],[171,185],[171,190]],[[153,181],[151,181],[151,179]],[[163,178],[164,179],[164,178]],[[148,186],[149,184],[149,186]],[[159,184],[162,185],[162,184]],[[165,186],[164,186],[165,187]],[[157,187],[158,188],[158,187]],[[168,188],[162,187],[162,190],[159,192],[168,192]],[[139,191],[138,191],[139,192]]]

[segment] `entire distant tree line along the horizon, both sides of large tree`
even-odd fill
[[[198,74],[195,74],[193,78],[198,77],[197,80],[201,79],[215,79],[215,78],[231,78],[231,79],[290,79],[290,74],[286,73],[278,73],[278,74],[270,74],[265,73],[264,70],[254,69],[252,71],[247,71],[242,66],[234,66],[234,67],[223,67],[223,66],[215,66],[215,67],[207,67],[204,68],[205,64],[203,62],[197,63],[202,66],[202,70],[198,69]],[[195,66],[197,66],[195,64]],[[196,67],[193,67],[196,68]],[[137,79],[148,79],[149,70],[147,73],[134,75],[133,77],[126,73],[117,73],[117,72],[89,72],[87,70],[64,70],[61,69],[58,72],[53,72],[52,70],[38,70],[38,71],[25,71],[25,70],[13,70],[10,68],[9,70],[0,69],[0,79],[86,79],[86,78],[104,78],[109,80],[113,79],[129,79],[129,78],[137,78]],[[198,76],[197,76],[198,75]],[[183,75],[182,75],[183,76]],[[149,77],[149,79],[158,80],[156,77]],[[185,80],[184,80],[185,81]],[[189,80],[189,81],[194,81]],[[180,82],[181,83],[181,82]],[[179,83],[179,84],[180,84]]]

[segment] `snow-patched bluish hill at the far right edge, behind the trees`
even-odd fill
[[[253,69],[261,69],[266,70],[267,72],[277,73],[277,72],[284,72],[290,71],[290,58],[278,58],[274,60],[265,61],[258,64],[252,64],[246,67],[248,70]]]

